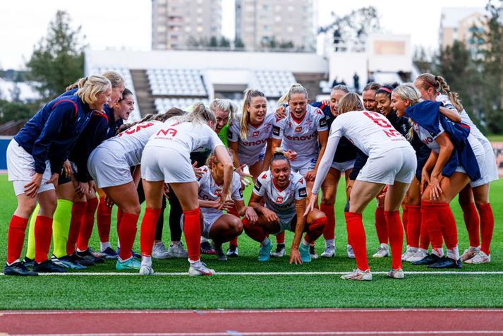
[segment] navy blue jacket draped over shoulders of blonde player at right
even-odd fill
[[[408,107],[405,114],[410,116],[419,126],[434,134],[440,133],[439,124],[442,124],[444,131],[449,135],[455,150],[452,152],[449,162],[442,169],[443,176],[452,176],[456,168],[462,166],[471,181],[476,181],[480,179],[480,169],[477,158],[468,142],[470,126],[453,123],[446,116],[440,114],[441,105],[441,102],[424,101]]]

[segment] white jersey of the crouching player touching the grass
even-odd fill
[[[270,171],[260,174],[255,181],[253,193],[262,196],[265,200],[265,208],[276,212],[279,217],[295,214],[296,200],[303,200],[308,196],[305,179],[301,174],[291,173],[290,184],[280,190],[274,185]]]

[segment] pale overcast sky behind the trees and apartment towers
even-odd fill
[[[302,0],[295,0],[302,1]],[[487,0],[315,0],[318,25],[330,13],[375,6],[384,32],[409,34],[413,46],[435,48],[443,7],[483,7]],[[92,49],[150,49],[151,0],[0,0],[0,68],[23,68],[57,10],[81,25]],[[222,0],[224,35],[234,37],[234,0]]]

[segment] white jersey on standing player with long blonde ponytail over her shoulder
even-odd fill
[[[240,160],[241,157],[256,157],[265,149],[267,140],[272,136],[272,125],[276,116],[274,116],[274,113],[268,113],[265,115],[262,124],[256,127],[249,124],[248,138],[246,139],[239,136],[241,118],[243,118],[242,115],[231,121],[231,126],[229,126],[229,132],[227,133],[229,141],[238,143],[238,156]]]

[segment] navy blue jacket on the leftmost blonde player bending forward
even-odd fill
[[[57,97],[45,104],[14,139],[35,160],[35,172],[43,174],[45,161],[59,173],[78,135],[90,121],[91,109],[76,95]]]

